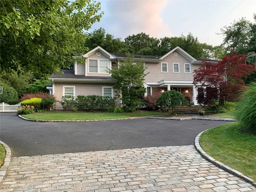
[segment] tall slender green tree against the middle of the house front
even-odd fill
[[[142,96],[146,93],[143,87],[146,67],[143,59],[133,63],[133,57],[128,54],[128,57],[120,62],[118,67],[109,69],[109,74],[117,82],[113,88],[116,89],[116,96],[121,98],[123,109],[125,111],[134,111],[138,109],[142,102]]]

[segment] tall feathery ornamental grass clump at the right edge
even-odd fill
[[[256,134],[256,83],[251,83],[249,89],[242,94],[235,117],[243,124],[241,131]]]

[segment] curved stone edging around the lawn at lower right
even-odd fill
[[[209,129],[207,129],[207,130],[209,130]],[[207,130],[205,130],[205,131],[207,131]],[[202,155],[202,157],[203,157],[204,159],[206,159],[207,161],[213,163],[214,165],[220,167],[221,169],[223,169],[223,170],[225,170],[225,171],[227,171],[227,172],[229,172],[229,173],[231,173],[231,174],[234,174],[235,176],[240,177],[240,178],[242,178],[243,180],[245,180],[245,181],[251,183],[252,185],[256,186],[256,182],[255,182],[252,178],[247,177],[247,176],[243,175],[242,173],[238,172],[237,170],[234,170],[234,169],[232,169],[231,167],[229,167],[229,166],[227,166],[227,165],[225,165],[225,164],[223,164],[223,163],[217,161],[216,159],[212,158],[210,155],[208,155],[208,154],[202,149],[202,147],[201,147],[200,144],[199,144],[199,137],[202,135],[203,132],[204,132],[204,131],[202,131],[201,133],[199,133],[199,134],[196,136],[196,139],[195,139],[196,150]]]

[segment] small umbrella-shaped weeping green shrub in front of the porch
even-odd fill
[[[157,99],[157,104],[159,106],[172,107],[173,114],[176,114],[175,108],[177,105],[180,105],[180,102],[182,102],[183,105],[187,104],[187,101],[185,97],[182,95],[182,93],[175,90],[165,91]]]

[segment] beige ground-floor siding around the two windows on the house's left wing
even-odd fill
[[[75,86],[75,96],[77,95],[100,95],[102,96],[102,87],[112,87],[110,83],[54,83],[54,95],[57,101],[63,96],[63,86]],[[115,95],[115,93],[114,93]],[[62,109],[59,102],[56,103],[56,109]]]

